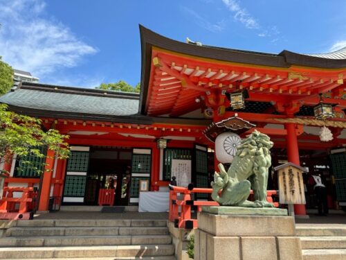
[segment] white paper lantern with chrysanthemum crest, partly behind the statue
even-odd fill
[[[233,132],[223,132],[215,140],[215,154],[217,160],[223,164],[233,162],[237,147],[242,139]]]

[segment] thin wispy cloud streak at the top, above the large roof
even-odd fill
[[[258,29],[260,24],[257,23],[256,19],[252,17],[245,8],[242,8],[239,3],[235,0],[222,0],[228,10],[233,12],[233,18],[240,21],[246,28]]]

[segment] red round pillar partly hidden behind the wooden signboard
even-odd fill
[[[298,139],[295,133],[295,123],[285,123],[284,128],[287,130],[286,148],[289,162],[300,165]],[[294,205],[295,215],[306,215],[305,205]]]

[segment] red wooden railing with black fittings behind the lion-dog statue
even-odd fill
[[[178,200],[178,193],[183,196],[182,200]],[[202,206],[219,206],[216,201],[210,200],[192,200],[192,193],[212,193],[212,189],[194,188],[190,184],[188,188],[177,187],[170,185],[170,212],[168,220],[174,222],[174,227],[192,229],[197,228],[197,219],[192,218],[192,206],[197,206],[197,211],[201,211]],[[251,195],[253,191],[251,191]],[[277,194],[277,191],[267,191],[267,201],[273,203],[274,207],[279,207],[278,202],[273,202],[272,196]],[[180,214],[179,214],[180,208]]]

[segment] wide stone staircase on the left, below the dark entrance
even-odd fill
[[[174,260],[166,220],[19,220],[0,259]]]

